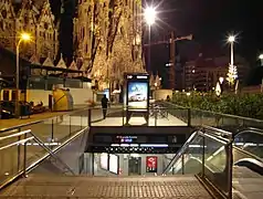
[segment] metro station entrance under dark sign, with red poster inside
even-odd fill
[[[92,127],[85,174],[159,176],[186,143],[188,127]]]

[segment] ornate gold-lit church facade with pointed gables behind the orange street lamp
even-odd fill
[[[1,0],[0,46],[15,52],[22,32],[30,33],[32,41],[21,43],[20,54],[54,60],[59,50],[59,24],[55,23],[49,0]]]

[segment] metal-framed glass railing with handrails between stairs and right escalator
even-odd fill
[[[211,128],[202,127],[196,132],[166,167],[165,175],[196,174],[225,198],[232,197],[232,139],[217,134],[211,135]],[[229,134],[224,132],[224,134]],[[217,161],[211,157],[221,153]]]

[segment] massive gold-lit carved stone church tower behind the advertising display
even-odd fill
[[[114,90],[125,72],[144,72],[141,32],[139,1],[78,0],[75,60],[101,90]]]

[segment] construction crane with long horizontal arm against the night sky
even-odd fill
[[[150,48],[151,45],[159,45],[159,44],[170,44],[170,71],[169,71],[169,85],[171,90],[175,90],[175,81],[176,81],[176,74],[175,74],[175,65],[176,65],[176,42],[181,40],[192,40],[192,34],[189,34],[187,36],[179,36],[175,38],[175,32],[171,32],[171,36],[169,40],[164,41],[157,41],[152,43],[144,44],[145,48]]]

